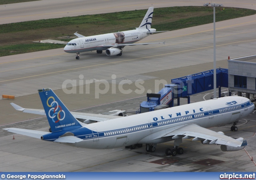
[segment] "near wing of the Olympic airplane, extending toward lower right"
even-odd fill
[[[223,145],[233,146],[233,147],[240,147],[240,146],[247,145],[246,142],[241,142],[232,137],[226,136],[222,133],[217,133],[210,129],[200,127],[196,124],[185,125],[183,127],[180,127],[164,135],[163,137],[167,137],[167,136],[172,136],[172,139],[193,138],[192,140],[202,140],[203,144],[223,144]]]

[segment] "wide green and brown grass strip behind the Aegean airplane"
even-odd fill
[[[74,36],[73,33],[76,31],[84,36],[92,36],[132,30],[140,25],[146,11],[134,10],[3,24],[0,25],[0,56],[63,47],[64,45],[32,42],[45,39],[60,40],[58,37]],[[216,22],[253,14],[256,14],[255,10],[225,7],[225,10],[221,11],[220,7],[216,7]],[[212,22],[213,8],[211,7],[184,6],[155,8],[152,28],[156,28],[157,31],[172,31]],[[65,37],[65,41],[69,40]],[[8,51],[15,52],[10,53]]]

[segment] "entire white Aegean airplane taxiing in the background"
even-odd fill
[[[148,44],[161,44],[161,43],[138,43],[139,40],[146,38],[152,33],[166,32],[156,31],[151,28],[154,7],[150,7],[144,16],[140,26],[136,30],[114,32],[109,34],[101,34],[96,36],[82,36],[77,32],[74,33],[78,38],[71,40],[64,47],[67,53],[76,53],[76,59],[79,59],[81,52],[95,51],[102,53],[106,50],[106,55],[122,55],[122,48],[126,45],[148,45]]]

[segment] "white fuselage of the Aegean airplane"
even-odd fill
[[[133,44],[146,38],[150,34],[147,32],[155,32],[156,29],[136,29],[108,34],[101,34],[96,36],[87,36],[76,38],[68,42],[64,47],[67,53],[80,53],[86,51],[102,51],[109,48],[106,45],[120,45],[120,44]]]

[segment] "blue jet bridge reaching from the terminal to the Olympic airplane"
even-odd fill
[[[188,98],[189,104],[191,95],[213,89],[213,76],[213,69],[211,69],[171,79],[172,83],[166,84],[158,93],[147,93],[147,101],[143,101],[140,104],[140,109],[136,113],[173,107],[174,99],[177,99],[178,105],[180,105],[181,97]],[[216,69],[216,87],[219,88],[219,97],[221,97],[221,87],[228,87],[228,69]]]

